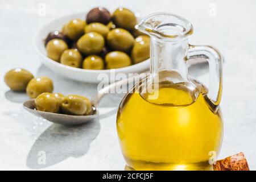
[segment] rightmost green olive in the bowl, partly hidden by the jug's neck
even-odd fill
[[[131,50],[131,59],[135,64],[150,57],[150,38],[147,35],[138,36]]]

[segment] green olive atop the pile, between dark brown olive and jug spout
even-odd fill
[[[137,18],[132,11],[119,7],[113,13],[113,22],[117,27],[125,28],[126,30],[134,30],[137,24]]]

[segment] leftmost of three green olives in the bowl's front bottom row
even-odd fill
[[[69,67],[80,68],[82,56],[77,49],[67,49],[62,53],[60,63],[68,65]]]

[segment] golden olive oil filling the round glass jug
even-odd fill
[[[222,143],[221,111],[210,109],[201,90],[188,88],[185,83],[160,84],[158,93],[130,92],[123,98],[117,131],[129,167],[210,169],[209,159],[218,155]],[[150,100],[152,94],[158,97]]]

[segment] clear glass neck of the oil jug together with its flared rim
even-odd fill
[[[151,38],[151,75],[163,73],[172,82],[187,81],[185,59],[187,38],[193,32],[192,24],[175,14],[156,13],[144,18],[138,24],[138,29]]]

